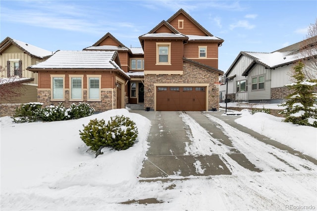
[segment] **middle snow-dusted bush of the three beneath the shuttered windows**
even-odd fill
[[[36,111],[39,119],[47,122],[67,120],[70,118],[68,114],[70,109],[66,109],[62,103],[58,106],[46,106]]]

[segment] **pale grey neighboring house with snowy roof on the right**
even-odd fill
[[[315,39],[316,40],[316,39]],[[285,85],[292,83],[292,67],[303,55],[317,55],[310,45],[304,52],[302,43],[272,53],[240,52],[228,71],[221,77],[220,101],[225,101],[226,88],[229,101],[281,103],[290,91]],[[310,52],[307,54],[306,52]],[[306,62],[311,62],[306,61]],[[226,79],[228,84],[226,84]]]

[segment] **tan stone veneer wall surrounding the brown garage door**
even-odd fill
[[[187,62],[183,62],[183,75],[149,74],[144,76],[144,107],[154,109],[154,84],[155,83],[188,83],[209,84],[208,109],[219,108],[218,73],[207,70]],[[150,91],[149,91],[150,90]]]

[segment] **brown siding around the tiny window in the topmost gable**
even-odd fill
[[[184,20],[183,29],[178,28],[178,20]],[[172,25],[175,29],[177,29],[180,33],[185,35],[200,35],[200,36],[206,35],[194,23],[192,23],[188,18],[186,18],[183,14],[179,14],[169,24]]]

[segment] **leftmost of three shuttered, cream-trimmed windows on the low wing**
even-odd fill
[[[64,101],[64,88],[65,88],[65,75],[51,75],[51,100],[52,101]]]

